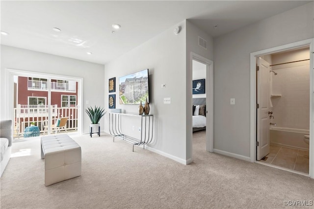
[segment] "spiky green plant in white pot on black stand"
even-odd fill
[[[100,119],[105,116],[105,114],[107,112],[105,112],[104,108],[101,107],[88,107],[87,109],[85,109],[85,112],[87,113],[87,115],[90,118],[90,121],[92,122],[90,124],[90,136],[92,137],[93,133],[98,133],[98,135],[100,136],[100,131],[99,131],[99,121]]]

